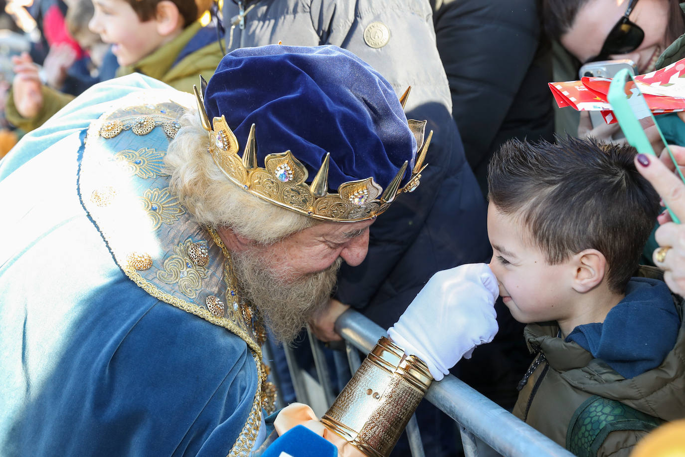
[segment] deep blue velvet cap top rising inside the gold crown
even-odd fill
[[[386,188],[405,161],[414,165],[416,139],[392,86],[336,46],[236,49],[210,79],[204,106],[209,119],[225,116],[240,145],[256,125],[258,166],[290,150],[310,182],[330,153],[332,189],[368,177]]]

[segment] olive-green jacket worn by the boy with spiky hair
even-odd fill
[[[566,446],[566,432],[575,411],[593,395],[665,421],[685,418],[685,325],[682,299],[674,296],[674,301],[681,321],[675,346],[660,366],[630,379],[577,343],[558,338],[556,323],[527,325],[525,341],[536,358],[526,373],[530,377],[519,392],[514,415],[562,446]],[[628,456],[646,433],[611,432],[597,456]]]

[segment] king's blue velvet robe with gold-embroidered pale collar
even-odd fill
[[[246,455],[262,439],[259,348],[221,249],[160,171],[170,93],[192,103],[140,75],[94,86],[0,164],[3,456]],[[103,138],[95,119],[117,107],[160,122]],[[206,267],[187,254],[203,241]]]

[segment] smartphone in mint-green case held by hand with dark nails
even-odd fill
[[[616,116],[616,120],[619,121],[619,125],[621,125],[621,130],[623,130],[623,134],[625,134],[625,139],[631,146],[638,150],[638,153],[649,154],[650,156],[656,157],[656,151],[654,151],[651,143],[649,143],[649,138],[647,138],[647,134],[645,134],[643,125],[653,124],[656,127],[663,147],[669,153],[669,156],[671,156],[673,164],[675,164],[675,170],[678,175],[680,175],[680,179],[685,182],[685,177],[683,177],[683,174],[680,171],[680,166],[675,162],[673,153],[666,144],[664,135],[661,133],[658,124],[654,120],[654,116],[651,114],[649,106],[647,106],[647,101],[645,101],[645,97],[643,96],[643,93],[640,92],[638,85],[635,84],[635,80],[630,74],[630,71],[623,69],[619,71],[619,73],[616,73],[609,86],[607,99],[609,103],[611,103],[611,108],[614,112],[614,116]],[[679,224],[680,220],[673,214],[671,208],[669,208],[668,205],[666,208],[669,210],[673,222]]]

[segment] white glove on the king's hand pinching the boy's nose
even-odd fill
[[[497,334],[497,277],[484,263],[438,271],[388,336],[407,354],[421,358],[436,381],[460,358]]]

